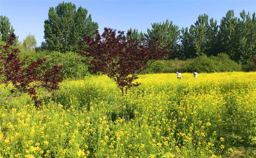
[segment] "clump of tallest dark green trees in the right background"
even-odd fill
[[[251,18],[244,10],[240,17],[229,10],[217,25],[213,18],[208,20],[208,15],[199,15],[194,26],[181,30],[179,58],[225,53],[239,64],[248,64],[250,56],[256,54],[256,18],[255,13]]]

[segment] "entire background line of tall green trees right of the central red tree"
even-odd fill
[[[131,31],[132,29],[128,30]],[[136,35],[135,35],[136,34]],[[227,54],[238,64],[248,64],[250,56],[256,55],[256,19],[243,10],[240,18],[234,17],[234,11],[229,10],[226,17],[217,20],[208,19],[208,15],[199,15],[198,20],[190,28],[179,29],[172,21],[153,23],[147,34],[133,30],[133,37],[152,38],[162,37],[162,45],[173,43],[168,59],[189,59],[201,55],[217,56]]]

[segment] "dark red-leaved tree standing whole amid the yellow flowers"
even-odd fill
[[[145,45],[141,45],[138,39],[127,40],[124,31],[118,31],[116,35],[116,30],[110,28],[104,28],[102,35],[98,30],[94,34],[95,38],[87,36],[78,41],[81,46],[78,54],[91,60],[92,71],[113,78],[123,95],[129,88],[141,84],[133,81],[153,62],[166,57],[166,48],[170,46],[161,47],[161,37],[153,41],[147,39]]]

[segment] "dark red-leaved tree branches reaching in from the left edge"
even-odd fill
[[[36,89],[45,88],[49,92],[59,89],[58,83],[61,82],[62,77],[60,76],[60,70],[63,66],[53,66],[51,71],[46,71],[44,62],[46,58],[38,59],[36,61],[29,61],[29,65],[25,66],[25,62],[29,56],[25,58],[19,58],[19,49],[11,48],[15,40],[15,34],[12,33],[9,36],[9,40],[5,46],[0,46],[1,48],[1,63],[0,63],[0,73],[1,78],[4,78],[2,83],[5,84],[4,89],[0,92],[3,93],[9,84],[12,84],[15,89],[10,90],[11,96],[1,98],[0,100],[6,100],[13,97],[20,96],[27,93],[32,100],[34,100],[34,106],[36,108],[42,104],[41,100],[37,99]],[[39,76],[37,74],[37,69],[40,68],[44,71],[44,74]]]

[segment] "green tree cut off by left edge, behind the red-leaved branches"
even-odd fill
[[[14,33],[15,29],[13,29],[13,26],[11,26],[11,23],[9,22],[8,17],[6,16],[0,16],[0,32],[1,32],[1,40],[2,41],[8,41],[8,36],[12,33]],[[14,46],[18,43],[18,36],[16,36],[16,40],[14,41]]]

